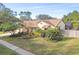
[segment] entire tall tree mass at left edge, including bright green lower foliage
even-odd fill
[[[7,8],[0,3],[0,31],[14,30],[18,28],[18,18],[15,17],[16,12]]]

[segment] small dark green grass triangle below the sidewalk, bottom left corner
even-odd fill
[[[17,53],[12,51],[11,49],[0,45],[0,55],[16,55]]]

